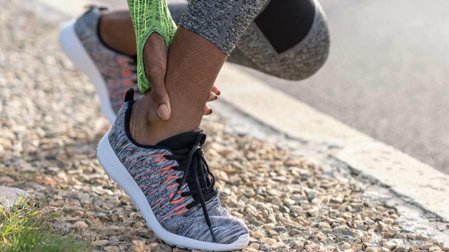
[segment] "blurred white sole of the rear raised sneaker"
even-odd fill
[[[59,35],[59,41],[65,54],[79,70],[89,77],[98,94],[105,117],[111,123],[114,123],[116,114],[109,99],[108,87],[102,74],[75,33],[75,20],[72,19],[66,22],[61,28]]]

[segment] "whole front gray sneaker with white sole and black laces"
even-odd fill
[[[130,90],[132,91],[132,90]],[[245,223],[220,205],[215,178],[203,155],[206,134],[198,129],[140,145],[131,137],[133,92],[98,144],[106,173],[130,195],[156,236],[170,245],[207,251],[245,247]]]

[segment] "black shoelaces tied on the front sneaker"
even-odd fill
[[[193,202],[189,203],[186,207],[187,209],[190,209],[201,204],[209,231],[211,232],[214,241],[216,241],[209,213],[207,211],[206,201],[217,195],[218,190],[214,189],[215,177],[209,170],[209,166],[203,155],[203,145],[205,141],[206,134],[200,132],[196,137],[195,144],[189,148],[174,151],[174,155],[165,155],[165,158],[168,160],[180,161],[180,166],[172,167],[175,171],[184,172],[183,177],[176,180],[176,182],[179,183],[178,191],[181,190],[184,183],[188,183],[190,191],[182,192],[181,196],[192,196]],[[194,189],[192,189],[192,187]]]

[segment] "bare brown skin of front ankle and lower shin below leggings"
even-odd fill
[[[160,119],[151,91],[146,92],[133,105],[130,133],[134,140],[155,145],[170,136],[196,130],[226,59],[227,55],[212,42],[179,26],[168,50],[165,75],[171,116],[165,121]]]

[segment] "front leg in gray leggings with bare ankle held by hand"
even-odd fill
[[[253,8],[249,13],[257,14],[258,9],[254,7],[256,4],[260,9],[261,2],[246,4]],[[234,43],[254,17],[243,15],[247,11],[244,6],[240,10],[235,8],[237,4],[223,5],[223,8],[228,8],[229,11],[224,15],[220,13],[223,8],[215,7],[210,13],[215,14],[215,18],[209,18],[201,13],[207,11],[207,8],[210,9],[201,1],[191,2],[187,7],[168,53],[165,85],[173,114],[167,121],[160,120],[154,106],[150,104],[153,102],[151,94],[143,95],[133,109],[130,125],[131,135],[141,141],[139,143],[155,144],[168,136],[198,128],[213,82],[227,59],[225,53],[232,51]],[[231,22],[232,16],[229,17],[229,13],[234,13],[237,21]],[[191,15],[195,15],[195,18]],[[226,18],[230,21],[222,22],[220,15],[225,21]],[[203,19],[198,18],[199,16]],[[222,31],[217,32],[216,27],[220,27],[219,23],[224,25]],[[242,26],[241,23],[246,24],[243,29],[238,27]],[[182,25],[201,36],[189,32]]]

